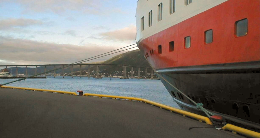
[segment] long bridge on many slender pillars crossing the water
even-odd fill
[[[47,66],[54,66],[54,68],[56,66],[67,66],[68,64],[26,64],[26,65],[0,65],[0,67],[16,67],[16,77],[18,76],[18,67],[26,67],[26,71],[25,71],[25,76],[28,75],[28,70],[27,67],[28,66],[35,66],[35,74],[37,74],[37,67],[39,66],[44,66],[44,72],[46,72],[46,67]],[[71,65],[71,77],[73,78],[73,67],[75,66],[79,66],[80,70],[80,78],[82,78],[82,66],[88,66],[88,78],[90,78],[90,66],[96,66],[96,77],[99,77],[99,66],[105,66],[105,65],[109,65],[109,66],[120,66],[123,68],[123,78],[127,78],[126,77],[126,68],[131,68],[131,79],[133,79],[133,68],[138,68],[138,79],[140,79],[140,70],[144,69],[145,71],[145,78],[147,79],[147,69],[151,69],[151,79],[153,79],[154,77],[154,70],[152,68],[147,68],[147,67],[140,67],[140,66],[129,66],[129,65],[120,65],[120,64],[91,64],[91,63],[81,63],[81,64],[74,64]],[[64,78],[64,68],[62,68],[62,76]],[[46,73],[44,73],[44,76],[46,77]],[[54,78],[56,77],[56,71],[54,70]]]

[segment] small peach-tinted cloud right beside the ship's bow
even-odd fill
[[[104,39],[120,41],[135,40],[135,35],[136,27],[134,25],[130,25],[129,27],[100,34],[100,36],[103,36]]]

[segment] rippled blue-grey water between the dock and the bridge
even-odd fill
[[[0,84],[13,80],[16,79],[0,79]],[[119,78],[111,78],[110,80],[110,78],[88,79],[88,77],[82,77],[80,79],[79,77],[48,77],[47,79],[26,79],[26,81],[11,83],[7,86],[70,92],[82,90],[83,93],[138,97],[179,108],[160,80],[123,80]]]

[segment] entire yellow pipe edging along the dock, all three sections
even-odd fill
[[[33,88],[10,87],[10,86],[1,86],[1,88],[24,89],[24,90],[32,90],[32,91],[53,92],[53,93],[77,95],[75,92],[56,91],[56,90],[47,90],[47,89],[33,89]],[[83,96],[92,96],[92,97],[100,97],[100,98],[112,98],[112,99],[121,99],[121,100],[133,100],[133,101],[144,102],[146,104],[150,104],[150,105],[159,107],[161,109],[166,109],[168,111],[181,114],[185,117],[187,116],[187,117],[199,120],[200,122],[205,122],[207,124],[212,125],[212,122],[210,121],[210,119],[205,117],[205,116],[197,115],[195,113],[190,113],[190,112],[187,112],[187,111],[176,109],[176,108],[173,108],[173,107],[170,107],[170,106],[167,106],[167,105],[163,105],[163,104],[153,102],[153,101],[150,101],[150,100],[146,100],[146,99],[142,99],[142,98],[102,95],[102,94],[89,94],[89,93],[85,93],[85,94],[83,94]],[[234,125],[231,125],[231,124],[226,124],[221,129],[229,130],[229,131],[232,131],[233,133],[239,133],[239,134],[249,136],[249,137],[260,138],[260,133],[257,133],[255,131],[251,131],[251,130],[248,130],[248,129],[244,129],[244,128],[241,128],[241,127],[238,127],[238,126],[234,126]]]

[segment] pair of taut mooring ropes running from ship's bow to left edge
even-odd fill
[[[135,44],[131,44],[129,46],[133,46],[133,45],[135,45]],[[124,48],[127,48],[129,46],[125,46],[125,47],[122,47],[120,49],[124,49]],[[77,62],[72,63],[72,64],[68,64],[68,65],[60,67],[60,68],[55,68],[55,69],[48,70],[46,72],[41,72],[41,73],[29,76],[29,77],[25,77],[25,78],[18,79],[18,80],[15,80],[15,81],[11,81],[11,82],[8,82],[8,83],[0,84],[0,86],[7,85],[7,84],[10,84],[10,83],[14,83],[14,82],[21,81],[21,80],[25,80],[25,79],[29,79],[29,78],[32,78],[32,77],[35,77],[35,76],[38,76],[38,75],[41,75],[41,74],[44,74],[44,73],[52,72],[52,71],[55,71],[55,70],[59,70],[59,69],[62,69],[62,68],[67,68],[69,66],[78,65],[78,64],[83,63],[83,62],[87,62],[87,61],[90,61],[90,60],[98,59],[98,58],[101,58],[101,57],[105,57],[105,56],[108,56],[108,55],[112,55],[112,54],[115,54],[115,53],[119,53],[119,52],[122,52],[122,51],[129,50],[129,49],[133,49],[135,47],[137,47],[137,46],[134,46],[134,47],[131,47],[131,48],[128,48],[128,49],[124,49],[124,50],[121,50],[121,51],[118,51],[120,49],[116,49],[116,50],[113,50],[113,51],[110,51],[110,52],[107,52],[107,53],[103,53],[103,54],[100,54],[100,55],[97,55],[97,56],[94,56],[94,57],[90,57],[90,58],[87,58],[87,59],[83,59],[81,61],[77,61]],[[117,52],[114,52],[114,51],[117,51]],[[111,53],[111,52],[114,52],[114,53]],[[110,54],[108,54],[108,53],[110,53]],[[105,55],[105,54],[107,54],[107,55]],[[101,55],[103,55],[103,56],[101,56]]]

